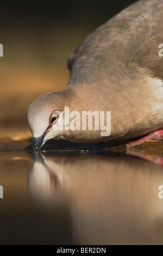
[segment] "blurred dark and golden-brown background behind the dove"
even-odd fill
[[[66,88],[67,59],[94,29],[135,1],[1,2],[0,142],[30,138],[30,103]]]

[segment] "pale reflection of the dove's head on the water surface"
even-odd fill
[[[66,173],[62,171],[61,160],[49,161],[40,152],[33,153],[33,167],[28,176],[28,189],[36,201],[46,205],[51,204],[54,199],[56,200],[56,194],[62,194],[64,182],[66,185],[69,184]]]

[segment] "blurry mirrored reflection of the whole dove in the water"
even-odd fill
[[[37,154],[28,180],[31,197],[43,208],[66,205],[74,237],[97,245],[162,243],[161,184],[160,166],[109,155]]]

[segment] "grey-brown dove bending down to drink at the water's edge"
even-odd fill
[[[124,140],[163,127],[163,58],[158,54],[163,42],[162,11],[162,1],[142,0],[87,36],[68,60],[68,87],[42,95],[28,108],[33,149],[51,138],[77,143]],[[69,129],[65,107],[78,113],[73,129]],[[111,134],[101,135],[104,131],[96,127],[96,118],[92,118],[92,129],[83,129],[87,111],[111,111]],[[161,136],[163,130],[147,138]]]

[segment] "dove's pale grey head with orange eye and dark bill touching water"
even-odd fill
[[[28,108],[27,122],[33,135],[32,148],[39,150],[48,139],[62,134],[64,102],[60,93],[47,93]],[[58,130],[54,130],[54,125]]]

